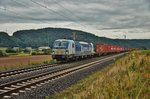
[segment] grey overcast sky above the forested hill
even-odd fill
[[[0,0],[0,31],[43,27],[150,39],[150,0]]]

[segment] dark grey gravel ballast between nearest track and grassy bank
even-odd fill
[[[13,99],[45,99],[45,96],[48,95],[51,99],[51,96],[55,92],[60,92],[70,87],[71,85],[77,83],[79,80],[87,77],[88,75],[91,75],[93,72],[101,70],[102,68],[108,66],[113,62],[114,60],[110,60],[99,65],[94,65],[87,69],[72,73],[70,75],[56,79],[40,87],[37,87],[36,89],[31,89],[31,91],[28,91],[26,93],[21,93],[19,96],[13,97]]]

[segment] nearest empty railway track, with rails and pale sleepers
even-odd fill
[[[36,88],[38,86],[42,86],[43,84],[49,83],[52,80],[59,79],[63,76],[89,68],[96,64],[110,61],[122,55],[123,54],[109,56],[101,60],[96,60],[91,63],[78,65],[76,67],[61,68],[58,70],[50,71],[48,73],[42,73],[32,77],[27,77],[13,82],[2,84],[0,85],[0,99],[11,98],[13,95],[19,95],[19,93],[26,92],[27,90],[31,90],[32,88]]]

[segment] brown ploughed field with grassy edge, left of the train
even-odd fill
[[[50,55],[0,57],[0,71],[42,64],[51,60]]]

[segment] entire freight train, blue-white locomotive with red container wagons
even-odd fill
[[[129,49],[120,46],[96,44],[94,49],[93,43],[58,39],[53,44],[52,58],[57,61],[69,61],[126,51]]]

